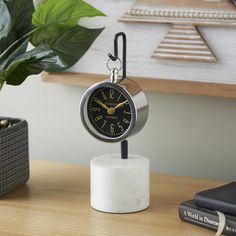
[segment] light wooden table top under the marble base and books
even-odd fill
[[[181,222],[178,205],[196,191],[223,182],[151,174],[151,206],[132,214],[107,214],[89,205],[89,168],[31,161],[29,182],[0,199],[2,236],[207,236],[212,231]]]

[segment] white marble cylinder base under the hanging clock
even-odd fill
[[[91,206],[110,213],[131,213],[150,205],[150,171],[146,157],[120,154],[95,157],[90,162]]]

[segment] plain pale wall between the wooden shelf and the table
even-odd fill
[[[29,122],[31,159],[88,164],[119,151],[82,127],[79,101],[85,88],[43,83],[32,76],[0,92],[1,115]],[[130,152],[150,158],[153,171],[217,179],[236,178],[236,100],[148,93],[150,116],[130,139]]]

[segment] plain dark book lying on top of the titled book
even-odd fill
[[[196,193],[194,204],[236,216],[236,182]]]

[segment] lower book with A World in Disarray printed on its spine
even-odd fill
[[[226,225],[224,235],[236,235],[236,217],[225,215]],[[218,214],[206,208],[196,206],[193,200],[185,201],[179,205],[179,218],[188,223],[198,225],[213,231],[217,231],[219,226]]]

